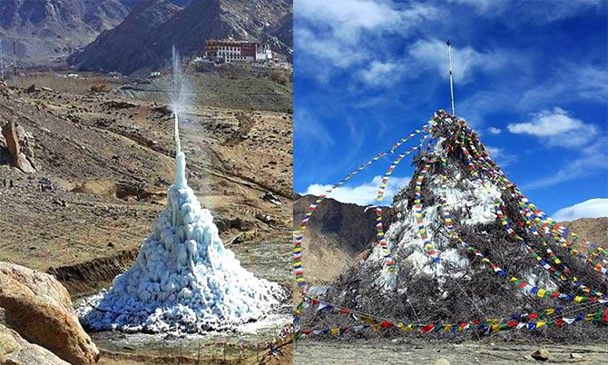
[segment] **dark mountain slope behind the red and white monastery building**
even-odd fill
[[[159,7],[158,1],[146,2],[140,6]],[[278,25],[285,15],[291,13],[289,0],[192,0],[181,12],[164,21],[164,12],[156,15],[147,36],[133,37],[123,29],[132,29],[137,18],[128,17],[110,38],[100,35],[93,44],[68,58],[68,64],[87,70],[117,71],[132,74],[138,70],[157,69],[168,63],[175,45],[185,56],[201,55],[205,41],[210,38],[246,40],[266,40],[272,25]],[[140,12],[142,9],[139,10]],[[284,39],[286,32],[279,32]],[[280,41],[279,43],[283,43]],[[277,43],[277,44],[279,44]],[[124,54],[112,52],[123,44],[131,54],[138,54],[136,60]],[[112,66],[112,68],[109,68]]]

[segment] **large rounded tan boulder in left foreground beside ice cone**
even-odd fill
[[[0,308],[7,327],[59,358],[74,365],[99,359],[99,350],[80,325],[69,293],[53,276],[0,262]]]

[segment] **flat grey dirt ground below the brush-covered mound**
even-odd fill
[[[530,355],[544,347],[549,360],[537,361]],[[572,354],[572,355],[571,355]],[[532,345],[516,343],[395,343],[390,340],[352,342],[303,340],[298,343],[294,364],[515,364],[584,363],[605,364],[608,346]],[[445,363],[445,362],[444,362]]]

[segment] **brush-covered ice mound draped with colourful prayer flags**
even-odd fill
[[[603,311],[606,252],[535,207],[464,120],[439,111],[427,131],[411,181],[383,209],[386,243],[317,299],[395,323]],[[357,325],[332,311],[303,314],[313,330]]]

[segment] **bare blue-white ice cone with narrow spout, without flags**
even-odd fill
[[[185,157],[166,209],[132,267],[78,313],[94,330],[199,332],[234,329],[264,318],[284,291],[258,279],[224,248],[211,212],[186,184]]]

